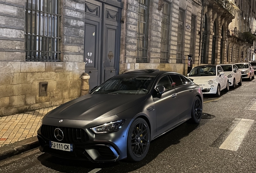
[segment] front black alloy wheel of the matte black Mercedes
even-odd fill
[[[127,139],[127,159],[141,161],[147,155],[150,144],[150,130],[147,122],[137,118],[132,122]]]

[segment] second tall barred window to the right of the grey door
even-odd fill
[[[163,18],[162,18],[160,63],[167,63],[169,58],[170,18],[171,18],[171,3],[168,1],[165,1],[165,4],[163,6]]]

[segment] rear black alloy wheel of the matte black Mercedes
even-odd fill
[[[193,102],[192,111],[191,111],[191,122],[200,123],[202,119],[202,102],[199,97],[196,97]]]

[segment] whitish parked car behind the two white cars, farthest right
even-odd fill
[[[254,79],[254,69],[249,62],[235,63],[242,73],[242,78],[247,78],[248,80]]]

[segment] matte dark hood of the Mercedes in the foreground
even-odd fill
[[[142,103],[146,98],[147,95],[88,94],[57,107],[46,117],[93,121],[116,115]]]

